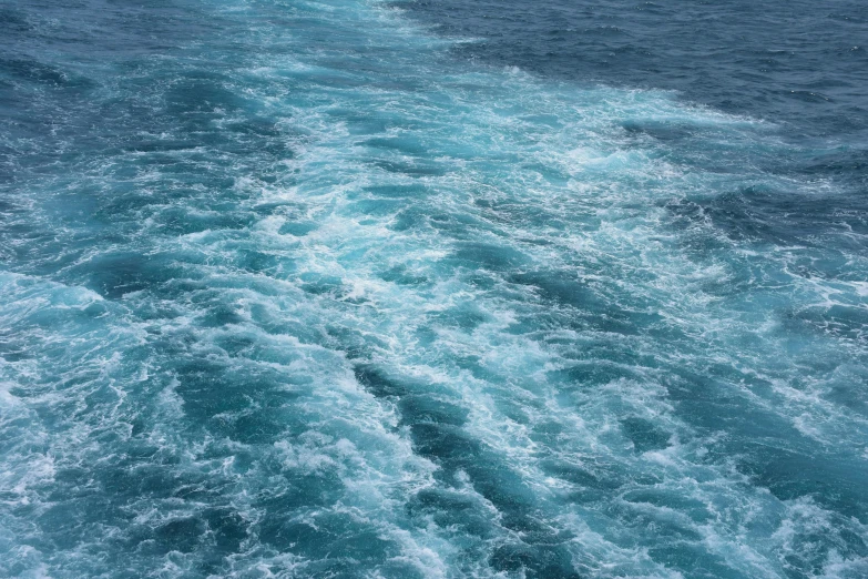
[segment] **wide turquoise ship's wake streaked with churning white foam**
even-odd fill
[[[64,228],[2,282],[0,569],[866,571],[865,292],[709,214],[817,186],[752,169],[790,153],[773,128],[451,70],[378,3],[222,18],[244,59],[111,85],[156,106],[149,145],[75,162],[23,217]],[[654,138],[673,125],[693,139]],[[786,482],[811,455],[846,465],[840,502],[756,464]]]

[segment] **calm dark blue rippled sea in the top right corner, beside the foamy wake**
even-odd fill
[[[677,90],[735,113],[786,119],[815,134],[866,129],[866,27],[860,2],[685,4],[489,0],[399,6],[481,59],[582,82]]]

